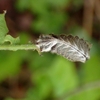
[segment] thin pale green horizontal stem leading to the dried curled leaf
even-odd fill
[[[23,44],[23,45],[0,45],[0,50],[36,50],[37,47],[34,44]]]

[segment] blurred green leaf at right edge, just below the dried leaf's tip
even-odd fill
[[[83,81],[85,83],[100,80],[100,56],[92,55],[90,60],[82,66],[84,71]]]

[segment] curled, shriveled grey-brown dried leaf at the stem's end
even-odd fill
[[[56,53],[73,62],[85,62],[90,58],[90,45],[78,36],[72,35],[41,35],[36,46],[41,52]]]

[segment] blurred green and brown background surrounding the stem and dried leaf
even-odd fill
[[[21,43],[40,34],[72,34],[92,43],[91,58],[73,63],[55,54],[0,51],[0,100],[100,100],[99,0],[0,0],[0,12]]]

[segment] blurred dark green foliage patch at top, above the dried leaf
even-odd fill
[[[70,0],[18,0],[16,7],[19,11],[28,9],[37,18],[32,22],[32,29],[40,33],[61,33],[62,25],[68,19],[64,13],[65,5]],[[60,9],[59,9],[60,8]]]

